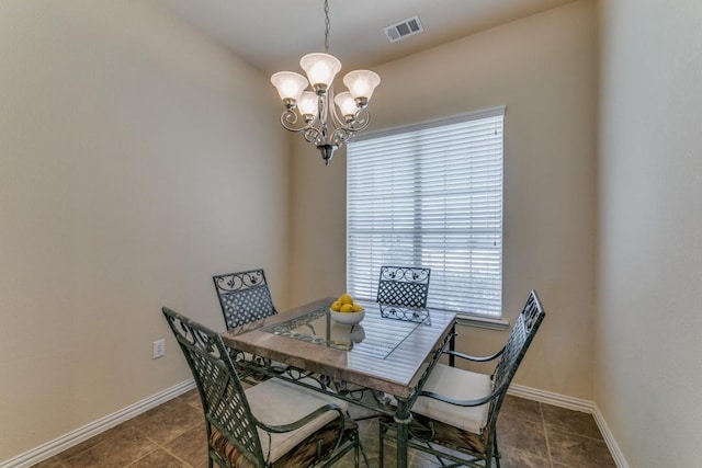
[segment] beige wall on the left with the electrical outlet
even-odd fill
[[[160,307],[224,328],[213,274],[286,299],[288,141],[155,2],[3,0],[0,31],[1,461],[190,378]]]

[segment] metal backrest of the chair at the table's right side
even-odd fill
[[[517,318],[517,322],[507,339],[507,344],[502,349],[500,361],[492,374],[492,390],[499,390],[499,393],[490,403],[487,422],[488,427],[495,427],[497,415],[502,400],[507,395],[509,385],[545,316],[546,312],[544,312],[541,306],[539,296],[536,292],[532,289],[529,293],[524,308]]]

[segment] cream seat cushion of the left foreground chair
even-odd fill
[[[290,424],[328,403],[339,406],[343,412],[349,407],[346,401],[314,390],[306,390],[295,384],[278,378],[272,378],[248,388],[246,396],[253,415],[269,425]],[[259,430],[263,454],[268,453],[270,446],[270,460],[274,463],[337,418],[339,418],[339,413],[328,411],[298,430],[282,434],[271,434],[270,442],[268,434],[263,430]]]

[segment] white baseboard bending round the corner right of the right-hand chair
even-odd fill
[[[553,404],[554,407],[566,408],[568,410],[592,414],[592,416],[595,418],[595,422],[602,433],[604,443],[607,444],[610,454],[612,454],[612,458],[614,458],[616,467],[629,468],[629,464],[624,458],[624,454],[622,454],[622,450],[619,448],[619,444],[616,444],[614,435],[612,435],[609,425],[607,425],[607,421],[604,421],[604,418],[602,416],[599,408],[592,401],[567,397],[558,393],[552,393],[550,391],[539,390],[535,388],[514,384],[510,386],[508,393],[513,395],[514,397],[525,398],[528,400]]]

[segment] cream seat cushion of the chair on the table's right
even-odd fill
[[[490,393],[490,376],[437,364],[423,387],[456,400],[475,400]],[[488,404],[457,407],[429,397],[419,397],[412,412],[435,421],[479,434],[487,423]]]

